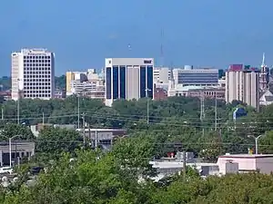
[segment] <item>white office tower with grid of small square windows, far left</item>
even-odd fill
[[[22,49],[12,53],[12,99],[50,99],[55,92],[55,53]]]

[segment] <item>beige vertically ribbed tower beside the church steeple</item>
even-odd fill
[[[246,102],[258,109],[259,99],[259,70],[232,64],[226,73],[226,102],[234,100]]]

